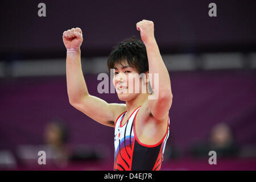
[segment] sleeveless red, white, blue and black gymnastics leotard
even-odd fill
[[[166,134],[160,142],[154,145],[143,144],[135,131],[135,118],[140,108],[141,106],[133,111],[123,126],[122,120],[127,111],[119,115],[115,121],[114,171],[158,171],[161,168],[166,140],[169,137],[170,118],[168,117]]]

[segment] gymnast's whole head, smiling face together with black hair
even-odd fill
[[[113,84],[120,100],[131,101],[147,93],[147,82],[143,82],[146,79],[142,77],[148,73],[148,59],[141,40],[135,36],[123,40],[114,47],[107,64],[114,74]]]

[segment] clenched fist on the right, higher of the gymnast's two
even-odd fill
[[[141,39],[144,44],[155,41],[154,22],[143,19],[136,24],[137,30],[141,32]]]

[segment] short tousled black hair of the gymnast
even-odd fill
[[[108,59],[109,71],[113,69],[116,64],[121,64],[123,61],[127,61],[139,74],[148,71],[146,46],[141,40],[137,39],[136,36],[131,36],[114,47]]]

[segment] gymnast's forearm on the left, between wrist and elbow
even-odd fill
[[[67,51],[66,72],[69,102],[75,104],[89,94],[82,74],[80,49]]]

